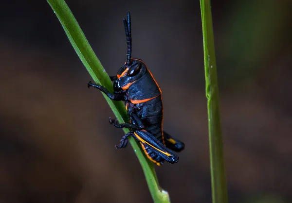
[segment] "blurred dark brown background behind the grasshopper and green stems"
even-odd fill
[[[110,75],[133,57],[163,90],[164,129],[186,143],[156,167],[173,203],[210,203],[199,0],[67,0]],[[213,1],[230,203],[292,202],[291,0]],[[131,147],[45,0],[0,3],[0,202],[148,203]]]

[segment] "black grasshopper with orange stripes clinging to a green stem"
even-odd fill
[[[179,156],[172,152],[181,152],[184,144],[163,131],[163,103],[161,89],[146,64],[136,58],[131,58],[131,18],[127,13],[124,19],[125,32],[128,44],[127,61],[119,69],[116,76],[110,77],[113,81],[114,92],[111,94],[105,87],[91,82],[93,86],[104,92],[111,100],[125,101],[130,123],[118,124],[110,119],[110,123],[117,128],[130,128],[122,139],[118,149],[127,146],[128,136],[138,140],[146,156],[157,165],[164,160],[176,163]],[[171,149],[171,150],[170,150]]]

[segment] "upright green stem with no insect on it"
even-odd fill
[[[223,142],[220,127],[219,89],[210,0],[200,0],[203,31],[206,97],[213,203],[227,203]]]

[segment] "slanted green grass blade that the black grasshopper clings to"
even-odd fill
[[[79,56],[80,60],[90,73],[95,83],[105,86],[111,92],[113,91],[109,75],[105,72],[98,58],[91,49],[89,42],[79,27],[75,17],[64,0],[47,0],[55,15],[58,17],[65,33],[67,34],[74,50]],[[105,94],[103,94],[105,96]],[[111,101],[105,96],[114,115],[120,123],[128,121],[128,115],[125,105],[121,101]],[[128,133],[128,129],[124,129]],[[132,138],[129,138],[144,171],[146,181],[155,203],[169,203],[169,195],[166,191],[161,189],[158,184],[157,176],[153,164],[146,158],[144,152],[138,146],[138,143]]]

